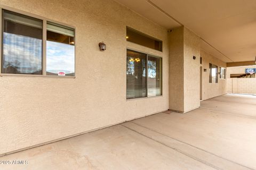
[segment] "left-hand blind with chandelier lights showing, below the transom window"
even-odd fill
[[[147,97],[147,55],[127,50],[126,98]]]

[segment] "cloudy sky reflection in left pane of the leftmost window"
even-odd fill
[[[3,73],[42,74],[42,40],[4,32]]]

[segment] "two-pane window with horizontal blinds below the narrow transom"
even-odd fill
[[[162,58],[127,49],[126,98],[162,95]]]

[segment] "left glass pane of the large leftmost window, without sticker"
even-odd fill
[[[3,10],[2,73],[42,74],[43,21]]]

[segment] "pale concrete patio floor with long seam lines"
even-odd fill
[[[0,169],[256,169],[256,96],[225,95],[1,157]]]

